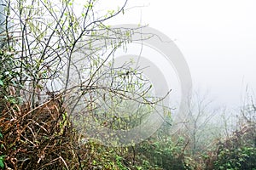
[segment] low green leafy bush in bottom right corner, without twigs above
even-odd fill
[[[218,144],[215,169],[256,169],[256,127],[243,127]]]

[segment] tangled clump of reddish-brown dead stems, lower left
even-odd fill
[[[7,105],[0,115],[0,130],[3,134],[0,156],[5,156],[6,169],[78,169],[81,166],[79,159],[83,155],[79,156],[76,134],[61,99],[49,100],[34,109],[27,105]]]

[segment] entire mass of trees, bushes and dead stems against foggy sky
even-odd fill
[[[118,68],[108,62],[138,33],[105,24],[124,13],[126,1],[97,13],[100,2],[89,0],[81,5],[81,14],[73,10],[74,3],[3,1],[0,169],[256,169],[253,102],[241,109],[236,129],[226,136],[224,128],[218,129],[222,136],[210,136],[215,111],[198,100],[189,105],[192,118],[186,129],[176,133],[170,133],[172,116],[166,108],[160,129],[139,144],[103,146],[86,138],[91,120],[129,130],[160,99],[149,98],[152,86],[131,68],[132,61]],[[113,106],[99,107],[109,104]],[[134,104],[137,114],[116,115],[119,108]],[[94,135],[97,139],[106,133]]]

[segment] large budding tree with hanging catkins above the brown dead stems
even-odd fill
[[[131,129],[150,115],[160,101],[150,98],[151,83],[131,67],[133,61],[115,67],[112,58],[139,29],[105,24],[124,13],[127,0],[103,12],[96,11],[99,3],[88,0],[78,8],[72,0],[5,1],[3,26],[10,27],[3,31],[1,80],[14,89],[7,99],[13,103],[22,99],[32,109],[61,99],[74,126],[81,129],[96,124]],[[151,36],[145,34],[142,40]],[[102,105],[105,108],[99,109]],[[137,105],[135,114],[120,116],[116,108],[124,105]]]

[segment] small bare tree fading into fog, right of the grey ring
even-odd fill
[[[216,139],[219,129],[213,117],[217,110],[212,107],[212,100],[207,99],[207,94],[194,93],[188,106],[188,120],[185,122],[187,139],[189,140],[191,154],[208,149],[212,139]]]

